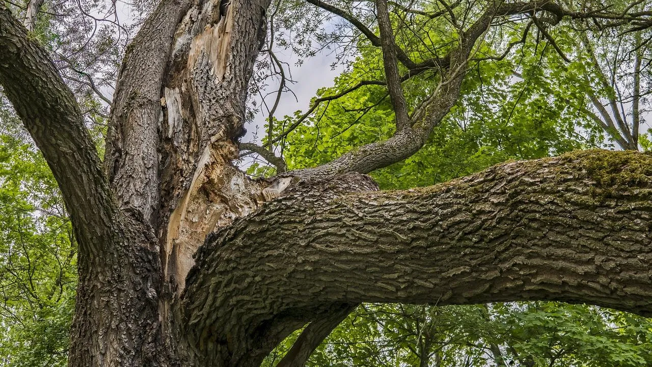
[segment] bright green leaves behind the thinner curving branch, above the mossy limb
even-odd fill
[[[496,54],[488,48],[482,52]],[[590,88],[578,79],[590,75],[578,76],[580,62],[563,65],[571,68],[569,72],[559,71],[560,65],[557,54],[535,42],[511,58],[473,65],[462,86],[463,97],[426,146],[372,176],[385,189],[432,185],[507,159],[534,159],[597,146],[604,140],[602,132],[578,101],[582,88]],[[382,79],[381,70],[378,50],[364,49],[351,70],[336,78],[334,87],[320,89],[318,97],[339,93],[361,79]],[[409,105],[424,99],[436,85],[437,78],[427,74],[405,82]],[[299,115],[286,116],[276,126],[290,125]],[[288,136],[284,150],[288,166],[320,165],[351,148],[385,140],[394,133],[393,119],[383,87],[357,89],[321,106],[309,123]]]

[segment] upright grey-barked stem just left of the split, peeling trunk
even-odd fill
[[[104,163],[121,208],[155,220],[158,206],[158,125],[173,35],[190,6],[162,0],[125,52],[113,95]]]

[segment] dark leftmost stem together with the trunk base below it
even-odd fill
[[[119,212],[74,95],[2,4],[0,49],[0,83],[52,168],[79,245],[70,365],[145,365],[163,357],[152,349],[158,324],[153,238]]]

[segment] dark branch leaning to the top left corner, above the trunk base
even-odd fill
[[[80,253],[97,256],[119,221],[82,111],[47,52],[2,4],[0,48],[0,84],[59,183]]]

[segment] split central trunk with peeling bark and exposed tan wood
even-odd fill
[[[185,285],[192,254],[215,227],[258,207],[263,182],[231,164],[243,130],[246,80],[264,40],[263,1],[200,1],[173,40],[164,88],[160,152],[164,272],[173,293]],[[257,11],[243,12],[241,8]],[[245,76],[243,79],[242,76]]]

